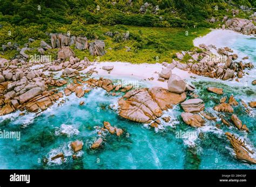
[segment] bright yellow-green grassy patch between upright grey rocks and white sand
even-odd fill
[[[194,47],[193,39],[210,32],[208,28],[124,26],[120,30],[117,29],[117,26],[101,27],[102,29],[98,31],[97,35],[99,39],[104,39],[107,52],[99,60],[131,63],[171,62],[176,52],[192,49]],[[104,35],[107,31],[117,30],[120,33],[129,32],[130,40],[116,42],[113,38]],[[131,47],[130,52],[126,52],[126,46]],[[96,59],[96,57],[90,56],[88,51],[79,51],[73,46],[71,48],[80,59],[83,59],[84,56],[89,57],[90,60]]]

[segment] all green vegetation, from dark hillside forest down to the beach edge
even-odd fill
[[[130,61],[154,63],[171,61],[173,53],[193,47],[192,40],[219,27],[224,16],[240,5],[255,6],[251,0],[0,0],[0,51],[2,44],[17,42],[23,46],[29,38],[36,41],[29,47],[39,47],[40,41],[50,44],[45,33],[67,33],[86,36],[89,40],[105,41],[107,54],[100,61]],[[140,7],[148,2],[145,13]],[[98,9],[97,9],[98,6]],[[154,12],[158,6],[159,10]],[[217,9],[216,9],[217,8]],[[240,11],[237,17],[248,18],[251,12]],[[214,17],[214,24],[207,21]],[[114,38],[105,32],[118,31]],[[188,32],[188,35],[185,32]],[[129,32],[130,40],[122,40],[122,33]],[[131,47],[126,52],[125,47]],[[74,49],[74,46],[72,46]],[[111,48],[111,49],[109,49]],[[77,56],[95,59],[88,51],[74,49]],[[0,57],[11,59],[18,52],[5,51]],[[31,53],[31,52],[29,52]],[[35,51],[35,53],[37,53]],[[50,50],[56,55],[56,50]]]

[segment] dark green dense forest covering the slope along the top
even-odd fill
[[[233,17],[232,9],[250,10],[255,6],[255,0],[0,0],[0,46],[10,41],[24,45],[29,38],[47,41],[45,33],[68,31],[88,39],[104,40],[105,31],[119,29],[122,32],[127,30],[125,26],[179,27],[183,32],[197,28],[200,34],[201,28],[219,27],[224,16]],[[240,11],[236,17],[250,15],[249,11]],[[211,18],[216,21],[211,23]],[[114,25],[125,26],[116,28]],[[133,30],[131,38],[135,40],[132,47],[145,48],[146,44],[154,43],[154,38],[147,39],[150,38],[147,35],[143,38],[138,28],[130,29]],[[191,48],[191,41],[184,44],[185,48],[178,49]],[[176,41],[177,45],[179,43]],[[38,44],[35,42],[33,47]],[[153,45],[159,53],[170,49],[159,41]],[[13,56],[15,52],[9,53],[5,56]]]

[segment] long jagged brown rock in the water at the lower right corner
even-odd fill
[[[225,135],[227,139],[230,140],[236,159],[250,164],[256,164],[256,160],[251,157],[251,154],[254,154],[254,152],[245,145],[245,141],[237,138],[234,134],[229,132],[226,132]]]

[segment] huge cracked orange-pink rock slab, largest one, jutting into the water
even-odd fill
[[[118,100],[118,113],[126,119],[151,123],[162,116],[163,110],[170,109],[172,104],[178,104],[185,98],[185,93],[179,95],[158,87],[136,89],[127,92]]]

